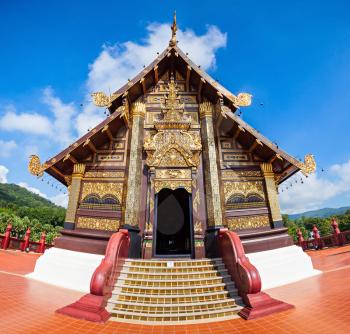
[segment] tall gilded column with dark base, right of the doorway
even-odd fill
[[[223,227],[213,112],[214,106],[212,103],[205,101],[199,105],[203,143],[205,198],[208,219],[208,228],[205,236],[205,250],[206,256],[208,257],[218,256],[216,239],[219,229]]]

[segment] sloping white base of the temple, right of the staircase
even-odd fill
[[[259,271],[262,290],[293,283],[322,273],[313,268],[311,258],[298,246],[282,247],[246,255]]]

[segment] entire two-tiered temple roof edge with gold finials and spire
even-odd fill
[[[216,105],[224,106],[225,112],[216,119],[217,126],[219,124],[224,126],[228,122],[232,125],[233,122],[234,131],[231,129],[230,134],[244,148],[254,151],[254,154],[273,164],[274,172],[278,175],[278,183],[299,170],[304,174],[313,172],[316,165],[312,155],[307,155],[304,163],[298,161],[262,136],[235,113],[238,108],[250,105],[251,95],[246,93],[234,95],[191,61],[177,46],[176,30],[175,20],[169,46],[132,80],[110,96],[102,92],[92,94],[94,103],[99,107],[108,108],[110,116],[44,164],[41,165],[38,157],[32,156],[30,171],[36,175],[42,175],[45,171],[67,185],[67,176],[72,173],[74,163],[86,159],[107,138],[111,139],[118,129],[128,126],[125,108],[155,86],[166,71],[177,70],[185,78],[187,90],[189,87],[194,87],[198,91],[198,102],[206,99]],[[38,173],[39,170],[40,173]]]

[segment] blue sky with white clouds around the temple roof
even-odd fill
[[[2,2],[2,181],[62,201],[29,175],[29,154],[46,160],[101,120],[89,93],[116,90],[162,51],[174,9],[179,46],[253,94],[243,118],[296,157],[314,153],[317,174],[280,188],[283,210],[350,205],[348,1]]]

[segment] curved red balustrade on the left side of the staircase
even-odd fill
[[[90,293],[56,312],[94,322],[108,320],[111,314],[105,308],[107,300],[128,256],[129,247],[130,237],[127,230],[114,233],[109,239],[104,259],[92,275]]]

